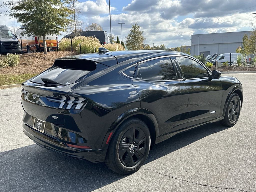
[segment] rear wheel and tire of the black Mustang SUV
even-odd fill
[[[145,162],[150,145],[147,125],[137,118],[126,120],[111,139],[105,164],[121,175],[134,173]]]

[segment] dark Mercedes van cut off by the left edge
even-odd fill
[[[21,53],[20,42],[6,25],[0,25],[0,54]]]

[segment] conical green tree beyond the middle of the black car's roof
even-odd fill
[[[128,36],[126,37],[126,47],[128,50],[140,50],[143,49],[142,44],[146,40],[143,37],[143,32],[140,31],[140,26],[138,23],[135,25],[132,24],[132,28],[129,31]]]

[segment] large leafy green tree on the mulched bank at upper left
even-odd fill
[[[70,11],[62,0],[15,0],[1,6],[8,7],[7,15],[22,24],[22,35],[43,37],[44,54],[47,54],[45,35],[60,35],[70,23],[67,18]]]

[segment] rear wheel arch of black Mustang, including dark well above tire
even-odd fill
[[[131,119],[131,118],[137,118],[137,119],[142,120],[144,123],[146,123],[146,125],[148,126],[148,129],[150,131],[151,143],[152,143],[152,145],[155,144],[156,137],[159,136],[158,123],[157,123],[155,116],[153,115],[152,112],[150,112],[147,109],[135,108],[135,109],[130,109],[129,111],[124,112],[112,123],[112,125],[109,127],[109,130],[107,131],[107,133],[104,137],[104,140],[102,143],[102,148],[108,147],[108,144],[111,142],[111,139],[113,138],[113,135],[115,134],[115,131],[118,129],[118,127],[120,127],[120,125],[124,121],[126,121],[127,119]],[[110,136],[109,142],[108,142],[108,144],[106,144],[110,134],[111,134],[111,136]]]

